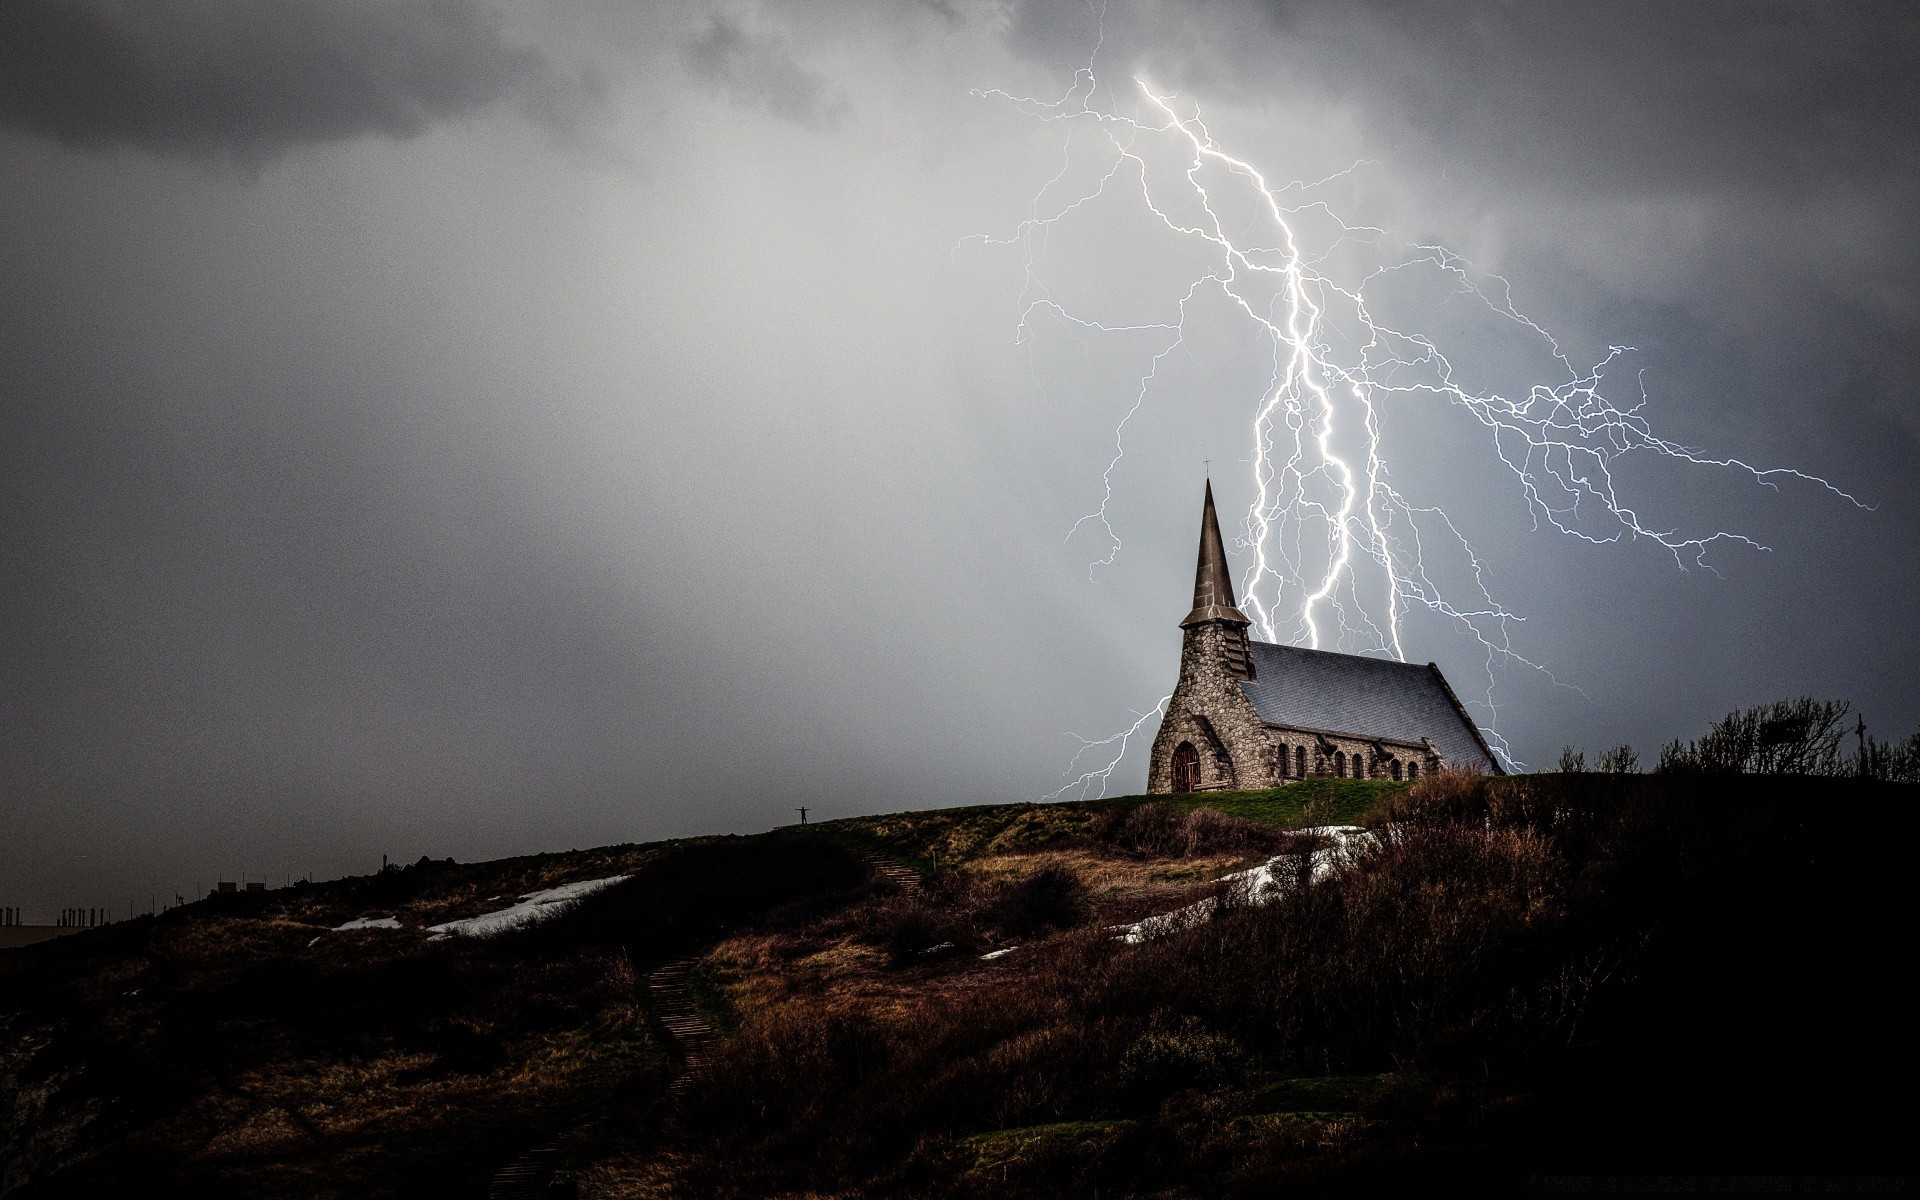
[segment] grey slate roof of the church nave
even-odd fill
[[[1252,647],[1254,678],[1240,687],[1269,726],[1411,743],[1432,737],[1440,756],[1453,766],[1500,770],[1440,668],[1430,662],[1394,662],[1267,641],[1254,641]]]

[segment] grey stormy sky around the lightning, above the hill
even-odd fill
[[[1121,317],[1177,263],[1123,205],[1002,244],[1069,131],[977,94],[1089,63],[1275,179],[1359,163],[1367,221],[1498,273],[1584,363],[1632,346],[1665,436],[1872,505],[1636,467],[1649,524],[1768,547],[1682,570],[1536,528],[1444,413],[1415,424],[1407,478],[1546,670],[1444,624],[1407,651],[1492,682],[1519,758],[1651,758],[1799,693],[1914,728],[1910,8],[1098,17],[0,12],[0,902],[1058,787],[1075,735],[1171,687],[1202,463],[1244,513],[1260,394],[1192,338],[1091,568],[1146,357],[1021,330],[1027,252]],[[1142,781],[1137,747],[1112,791]]]

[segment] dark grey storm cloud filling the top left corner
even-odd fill
[[[407,138],[503,98],[561,117],[580,84],[490,10],[390,0],[65,0],[0,8],[0,125],[79,146],[259,161]]]

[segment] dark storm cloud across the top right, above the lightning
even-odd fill
[[[1054,67],[1092,38],[1048,4],[1010,31]],[[1332,106],[1415,211],[1490,223],[1557,286],[1584,273],[1782,353],[1839,351],[1920,432],[1914,6],[1114,6],[1100,61],[1212,102]]]

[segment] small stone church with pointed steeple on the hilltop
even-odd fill
[[[1154,737],[1146,791],[1417,780],[1446,768],[1501,774],[1432,662],[1269,645],[1246,636],[1250,624],[1235,607],[1208,484],[1181,680]]]

